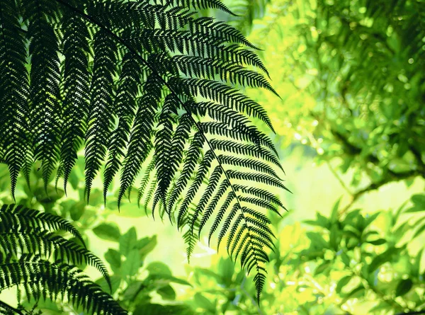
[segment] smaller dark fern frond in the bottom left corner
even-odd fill
[[[22,206],[1,207],[0,292],[18,287],[18,297],[23,291],[36,302],[66,298],[93,314],[127,314],[77,267],[82,263],[94,266],[111,287],[102,261],[58,231],[67,231],[84,244],[79,231],[61,217]],[[13,309],[7,304],[0,305],[0,314],[10,311]]]

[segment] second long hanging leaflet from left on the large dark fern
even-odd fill
[[[59,46],[52,25],[47,21],[47,1],[25,1],[30,41],[30,128],[34,157],[42,161],[42,178],[47,188],[58,159],[57,139],[60,117]],[[51,13],[50,10],[47,13]]]

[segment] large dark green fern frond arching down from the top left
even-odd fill
[[[256,270],[259,297],[273,248],[263,212],[283,205],[258,185],[285,186],[249,118],[271,122],[239,88],[274,90],[256,47],[198,8],[231,13],[217,0],[1,1],[0,160],[12,192],[33,161],[66,190],[82,147],[87,199],[103,165],[105,197],[120,172],[118,203],[141,177],[139,201],[185,227],[189,256],[210,220]]]

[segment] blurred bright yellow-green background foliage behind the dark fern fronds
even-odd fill
[[[214,256],[211,268],[187,266],[186,280],[172,275],[175,262],[145,264],[162,236],[121,231],[111,214],[139,217],[145,211],[131,203],[120,212],[114,202],[104,206],[101,190],[86,205],[80,160],[67,197],[55,183],[46,193],[34,170],[31,189],[18,186],[16,202],[72,220],[91,248],[98,239],[107,241],[103,257],[114,297],[133,314],[424,311],[424,193],[401,195],[403,205],[390,210],[353,206],[384,185],[404,181],[409,187],[425,178],[425,2],[274,0],[240,6],[251,13],[234,23],[244,33],[252,29],[249,39],[264,49],[282,98],[248,91],[271,115],[276,142],[289,148],[285,152],[302,146],[306,158],[328,164],[350,196],[345,204],[334,196],[329,215],[317,212],[316,219],[288,224],[290,213],[275,217],[276,250],[259,305],[251,280],[224,255]],[[1,202],[12,202],[8,188],[1,166]],[[69,311],[50,304],[44,309]]]

